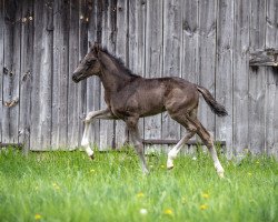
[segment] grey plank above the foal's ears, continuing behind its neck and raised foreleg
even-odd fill
[[[110,0],[111,2],[111,0]],[[100,6],[98,7],[99,10],[101,10],[101,43],[102,47],[106,47],[108,51],[111,53],[115,53],[116,50],[116,42],[115,42],[115,27],[116,21],[113,21],[111,18],[110,7],[112,4],[109,3],[108,0],[101,1]],[[115,6],[115,4],[113,4]],[[113,10],[117,11],[116,6],[113,7]],[[115,12],[116,12],[115,11]],[[100,30],[101,31],[101,30]],[[103,85],[101,85],[101,109],[106,109],[107,104],[105,102],[105,89]],[[115,121],[111,120],[101,120],[100,121],[100,150],[108,150],[112,148],[112,143],[115,141]]]

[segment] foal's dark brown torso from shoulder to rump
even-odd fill
[[[139,113],[139,117],[148,117],[198,105],[196,84],[181,78],[135,78],[117,94],[112,109],[121,115]]]

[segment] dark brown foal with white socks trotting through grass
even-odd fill
[[[101,49],[97,43],[89,43],[89,52],[75,70],[72,80],[79,82],[90,75],[98,75],[105,87],[107,109],[89,112],[85,120],[85,132],[81,145],[87,154],[93,158],[89,147],[89,125],[93,119],[121,119],[126,122],[131,141],[140,158],[143,173],[148,173],[143,154],[142,140],[138,130],[138,120],[167,111],[170,117],[187,129],[186,135],[168,153],[167,168],[173,168],[173,159],[181,147],[196,133],[207,145],[219,176],[224,168],[218,160],[214,139],[197,119],[199,94],[201,93],[211,110],[219,117],[227,115],[210,92],[181,78],[146,79],[131,73],[123,63]]]

